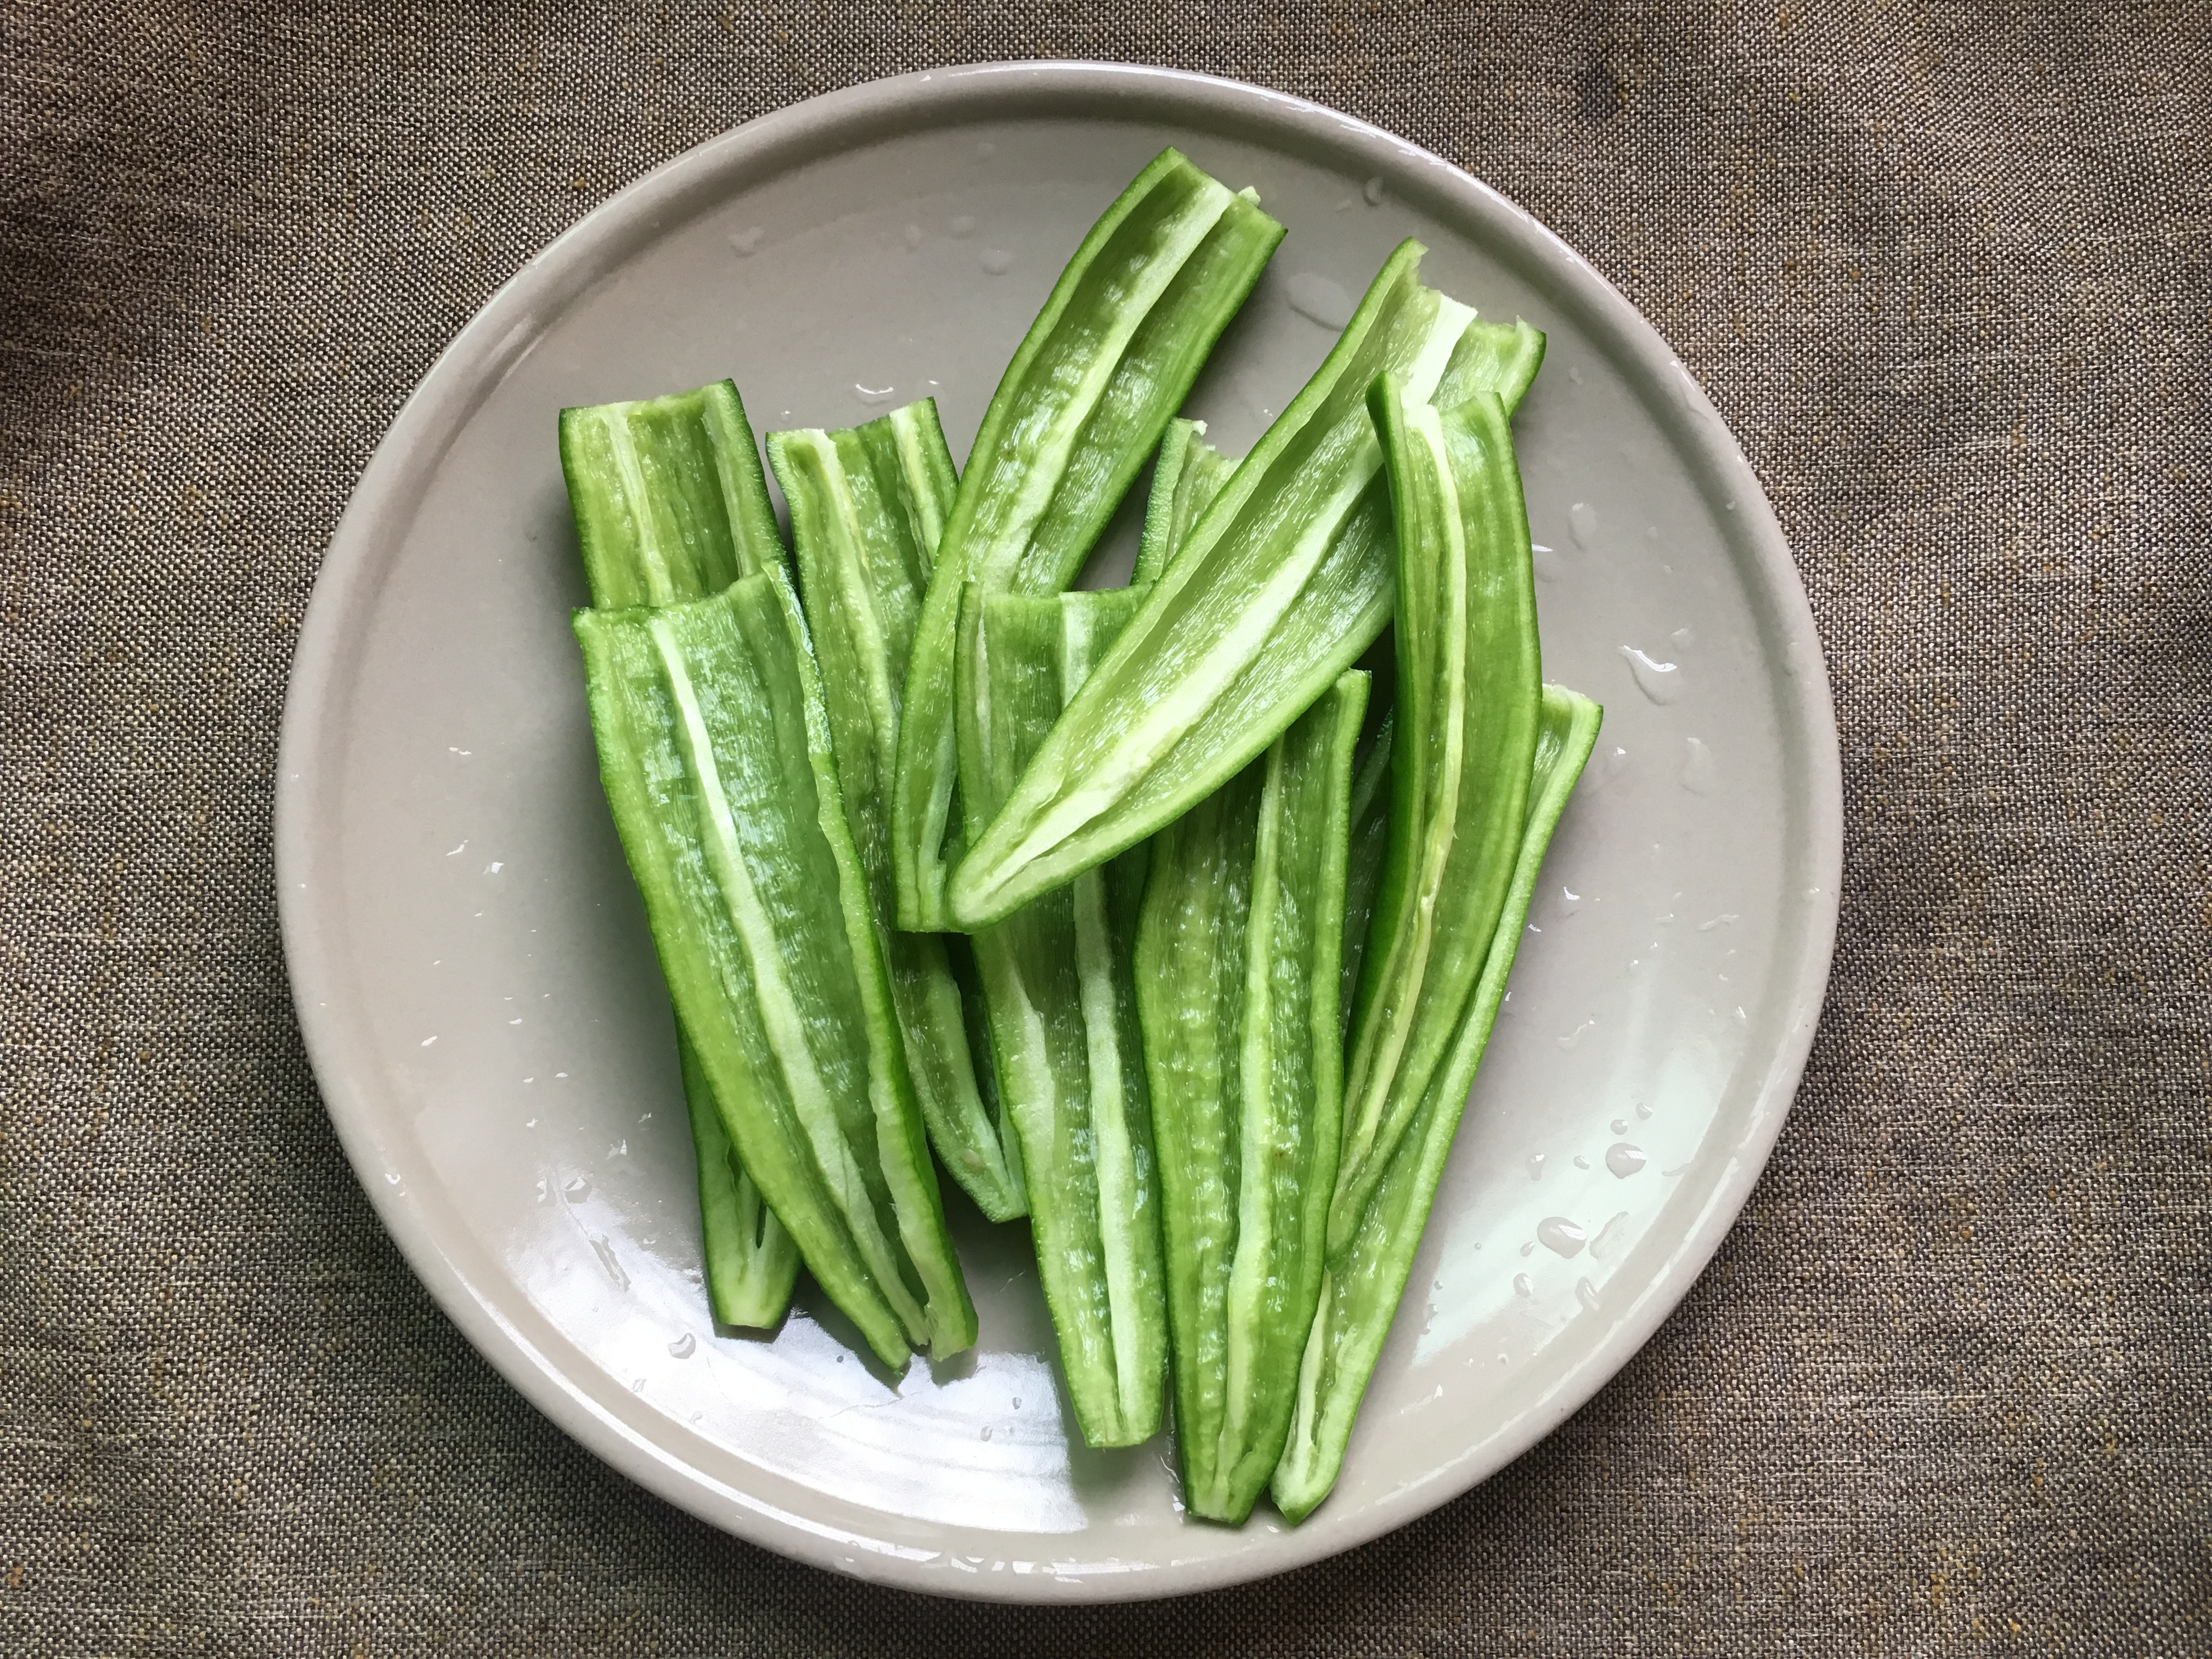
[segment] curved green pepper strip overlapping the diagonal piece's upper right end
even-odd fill
[[[1498,931],[1544,695],[1504,405],[1478,392],[1440,414],[1378,378],[1369,407],[1398,526],[1398,763],[1374,953],[1352,1011],[1332,1256],[1427,1095]]]

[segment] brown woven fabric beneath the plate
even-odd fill
[[[2035,13],[2035,15],[2031,15]],[[1489,179],[1708,380],[1812,591],[1843,938],[1683,1310],[1438,1515],[995,1610],[644,1495],[476,1358],[301,1055],[296,619],[484,296],[637,173],[1133,58]],[[0,1652],[2212,1652],[2212,11],[0,7]]]

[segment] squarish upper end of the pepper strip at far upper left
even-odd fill
[[[560,465],[591,602],[681,604],[783,562],[732,380],[560,411]]]

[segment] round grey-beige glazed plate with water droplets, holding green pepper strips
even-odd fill
[[[568,611],[562,405],[734,376],[754,425],[936,396],[964,453],[1062,261],[1164,144],[1290,226],[1192,394],[1241,453],[1402,237],[1551,354],[1520,445],[1544,668],[1606,703],[1336,1493],[1186,1522],[1088,1451],[1020,1225],[956,1206],[982,1343],[902,1380],[818,1296],[719,1334],[644,914]],[[1130,518],[1128,513],[1124,520]],[[1126,524],[1124,524],[1126,529]],[[546,1416],[768,1548],[949,1595],[1279,1573],[1467,1491],[1681,1298],[1759,1175],[1836,925],[1834,712],[1759,484],[1659,336],[1458,168],[1252,86],[995,64],[818,97],[630,186],[462,330],[363,473],[283,723],[299,1015],[407,1261]],[[951,1186],[947,1183],[951,1192]]]

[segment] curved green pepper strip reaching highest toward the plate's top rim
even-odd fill
[[[1073,580],[1281,237],[1252,192],[1161,150],[1084,237],[1013,354],[907,668],[891,807],[902,927],[947,927],[962,591],[1057,593]]]

